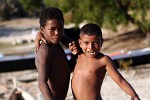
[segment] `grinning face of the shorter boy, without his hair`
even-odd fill
[[[80,35],[79,44],[82,51],[89,57],[96,57],[101,49],[101,38],[96,35]]]

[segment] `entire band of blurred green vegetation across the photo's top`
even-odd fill
[[[78,25],[86,20],[114,31],[119,24],[132,23],[150,33],[150,0],[1,0],[0,19],[19,15],[20,8],[26,16],[37,16],[47,6],[60,8],[67,23]]]

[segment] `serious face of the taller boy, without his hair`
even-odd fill
[[[58,19],[48,20],[46,25],[41,27],[41,31],[48,43],[57,44],[64,34],[63,21]]]

